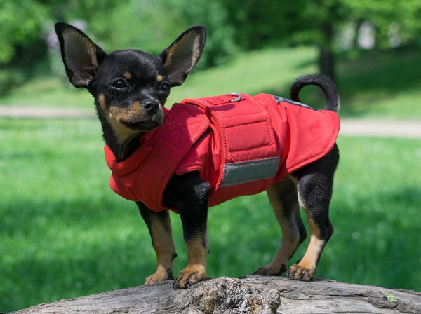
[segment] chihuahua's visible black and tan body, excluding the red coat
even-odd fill
[[[106,54],[86,34],[71,25],[59,22],[55,31],[69,81],[77,88],[86,88],[95,98],[105,142],[117,163],[131,158],[144,143],[143,138],[161,128],[167,118],[163,106],[170,88],[185,81],[199,61],[206,41],[206,29],[196,26],[183,32],[158,57],[140,50],[118,50]],[[335,86],[328,78],[319,75],[299,78],[291,88],[293,101],[290,103],[303,108],[304,114],[316,111],[298,103],[301,88],[310,84],[319,86],[325,93],[327,111],[338,111],[339,97]],[[273,98],[283,101],[280,97]],[[306,135],[300,136],[305,139]],[[258,268],[256,275],[281,275],[287,271],[290,258],[307,236],[300,219],[299,209],[302,207],[307,215],[311,237],[304,257],[298,264],[290,266],[287,275],[295,280],[311,280],[314,277],[323,247],[333,233],[328,208],[333,174],[339,160],[335,138],[322,157],[267,188],[270,204],[281,226],[282,241],[274,259],[267,266]],[[297,145],[300,146],[300,143]],[[273,165],[274,159],[269,161],[262,163],[265,169]],[[243,166],[241,164],[235,170]],[[241,173],[236,175],[241,177]],[[187,245],[187,267],[175,279],[175,288],[189,287],[207,277],[210,189],[210,184],[197,171],[174,174],[165,186],[163,199],[159,200],[164,207],[175,208],[180,213]],[[176,254],[168,210],[155,212],[139,200],[137,204],[149,228],[157,257],[156,273],[150,275],[145,284],[173,279]]]

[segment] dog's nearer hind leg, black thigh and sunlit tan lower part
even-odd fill
[[[321,252],[333,234],[328,213],[338,158],[335,146],[328,155],[294,174],[298,179],[298,201],[309,222],[310,240],[304,257],[287,272],[291,279],[308,281],[314,277]]]

